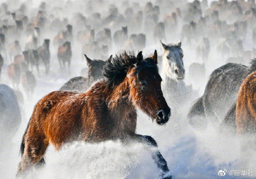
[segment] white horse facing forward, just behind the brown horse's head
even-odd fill
[[[161,42],[163,48],[162,55],[162,78],[163,93],[168,105],[172,107],[174,113],[182,113],[186,108],[189,110],[192,96],[196,96],[192,87],[187,87],[183,79],[185,69],[183,63],[182,42],[177,44],[165,45]],[[184,112],[183,112],[184,113]]]

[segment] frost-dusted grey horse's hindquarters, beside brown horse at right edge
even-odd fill
[[[227,63],[214,70],[201,96],[191,107],[187,115],[190,124],[194,127],[207,125],[209,119],[219,124],[223,119],[232,121],[226,116],[237,99],[237,93],[243,80],[251,71],[255,71],[255,60],[248,68],[236,63]],[[229,112],[232,116],[232,111]],[[225,117],[226,116],[226,117]],[[234,121],[234,119],[233,119]]]

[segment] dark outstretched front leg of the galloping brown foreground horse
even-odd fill
[[[157,142],[155,141],[154,138],[148,135],[135,135],[135,139],[138,142],[147,144],[148,146],[152,146],[157,148]],[[166,160],[163,158],[162,154],[158,149],[155,149],[151,153],[152,159],[154,159],[155,163],[157,164],[157,167],[161,170],[161,177],[162,178],[172,178],[172,176],[169,175],[169,169],[167,166]]]

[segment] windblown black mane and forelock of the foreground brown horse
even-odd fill
[[[158,70],[157,65],[152,61],[151,58],[143,59],[139,65],[136,65],[137,58],[134,52],[123,52],[120,55],[116,55],[115,58],[108,60],[103,67],[103,76],[109,87],[119,85],[125,80],[127,72],[136,66],[136,73],[150,67]]]

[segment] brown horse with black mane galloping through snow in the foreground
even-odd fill
[[[49,144],[58,150],[74,140],[120,139],[157,147],[152,137],[136,134],[136,107],[157,124],[165,124],[170,117],[161,90],[157,51],[145,59],[142,52],[137,57],[124,52],[106,62],[103,74],[104,79],[86,92],[54,91],[35,105],[20,148],[22,161],[18,174],[44,163]],[[169,174],[166,160],[158,150],[152,152],[152,157],[162,170],[162,177],[166,177]]]

